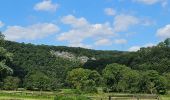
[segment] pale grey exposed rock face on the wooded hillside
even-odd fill
[[[56,57],[61,57],[64,59],[69,59],[69,60],[78,60],[81,63],[86,63],[88,60],[96,60],[94,57],[93,58],[89,58],[87,56],[80,56],[80,57],[76,57],[74,54],[69,53],[69,52],[64,52],[64,51],[50,51],[52,55],[56,56]]]

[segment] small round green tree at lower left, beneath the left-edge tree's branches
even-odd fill
[[[7,76],[4,79],[3,89],[5,90],[16,90],[19,86],[20,79],[17,77]]]

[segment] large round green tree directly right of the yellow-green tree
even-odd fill
[[[125,65],[110,64],[103,70],[107,88],[114,92],[137,91],[139,74]]]

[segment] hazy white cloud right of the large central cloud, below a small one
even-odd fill
[[[117,15],[113,23],[114,31],[115,32],[127,31],[129,27],[139,23],[140,20],[135,16],[125,14]]]

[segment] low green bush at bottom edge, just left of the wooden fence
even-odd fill
[[[85,96],[78,96],[78,95],[72,95],[72,96],[66,96],[66,95],[57,95],[54,100],[91,100],[90,98],[87,98]]]

